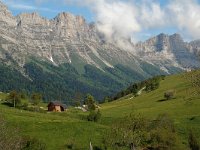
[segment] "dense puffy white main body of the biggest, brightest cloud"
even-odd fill
[[[102,0],[96,4],[95,12],[97,27],[108,39],[127,38],[141,30],[137,10],[131,3]]]

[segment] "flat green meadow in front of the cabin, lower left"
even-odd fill
[[[73,111],[73,115],[78,112]],[[70,112],[65,113],[37,113],[0,106],[0,114],[11,126],[19,127],[24,136],[36,137],[47,143],[49,150],[66,149],[69,141],[73,141],[77,149],[87,149],[91,139],[94,145],[101,144],[102,132],[107,128],[104,125],[81,120],[78,116],[72,117]]]

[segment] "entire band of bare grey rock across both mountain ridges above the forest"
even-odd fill
[[[126,51],[114,42],[104,41],[95,24],[88,24],[81,16],[62,12],[51,20],[37,13],[15,17],[0,2],[0,61],[8,65],[23,68],[36,58],[56,66],[70,63],[77,69],[90,64],[102,71],[123,64],[144,74],[141,62],[167,73],[170,66],[200,67],[195,55],[199,47],[185,43],[178,34],[160,34],[131,46],[133,51]]]

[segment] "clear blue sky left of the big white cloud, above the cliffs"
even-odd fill
[[[62,0],[49,0],[41,3],[35,0],[2,0],[2,2],[15,16],[23,12],[38,12],[41,16],[52,19],[60,12],[70,12],[84,16],[88,22],[93,21],[92,13],[87,7],[68,5]]]

